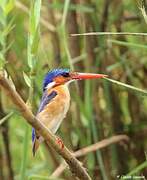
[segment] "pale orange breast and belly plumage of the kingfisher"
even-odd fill
[[[58,86],[53,90],[57,92],[57,95],[38,113],[37,117],[47,128],[55,133],[69,109],[70,94],[66,85]]]

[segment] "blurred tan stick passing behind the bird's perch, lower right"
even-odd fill
[[[118,143],[120,141],[128,141],[129,137],[126,135],[116,135],[116,136],[112,136],[110,138],[104,139],[98,143],[92,144],[88,147],[82,148],[76,152],[73,153],[73,155],[75,157],[80,157],[80,156],[84,156],[90,152],[94,152],[97,151],[98,149],[102,149],[104,147],[107,147],[111,144],[114,143]],[[51,177],[59,177],[62,172],[65,170],[65,168],[67,167],[67,164],[65,162],[61,163],[57,169],[52,173]]]

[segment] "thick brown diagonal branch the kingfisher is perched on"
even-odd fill
[[[64,146],[63,149],[56,143],[56,137],[52,134],[32,112],[28,109],[19,94],[11,86],[8,79],[6,79],[2,72],[0,72],[0,85],[4,91],[10,97],[12,102],[17,106],[18,110],[22,113],[22,116],[26,121],[32,125],[39,134],[46,140],[47,144],[54,148],[54,150],[60,154],[70,167],[71,172],[82,180],[91,180],[86,170],[82,167],[81,163],[72,155],[72,153]]]

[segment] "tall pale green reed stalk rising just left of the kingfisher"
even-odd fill
[[[36,55],[39,45],[39,21],[40,21],[40,9],[41,9],[41,0],[32,0],[30,8],[30,17],[29,17],[29,35],[28,35],[28,44],[27,44],[27,59],[28,66],[30,68],[30,75],[28,77],[28,86],[29,86],[29,96],[27,99],[27,105],[30,109],[33,107],[33,98],[34,98],[34,72],[36,64]],[[25,136],[23,141],[23,154],[22,154],[22,163],[20,176],[21,179],[26,178],[26,169],[28,163],[28,148],[29,148],[29,127],[26,124]]]

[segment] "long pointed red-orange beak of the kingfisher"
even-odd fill
[[[105,74],[93,74],[93,73],[72,73],[72,79],[82,80],[82,79],[96,79],[107,77]]]

